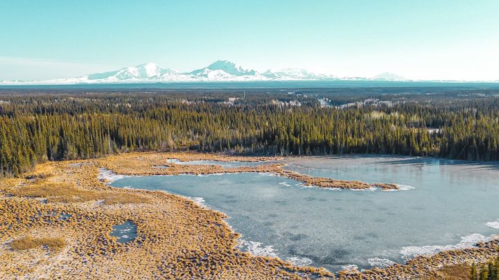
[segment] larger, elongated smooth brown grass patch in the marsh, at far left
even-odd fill
[[[37,182],[12,192],[15,196],[46,198],[48,203],[75,203],[104,200],[105,204],[146,203],[147,199],[138,194],[95,192],[80,189],[67,183]]]

